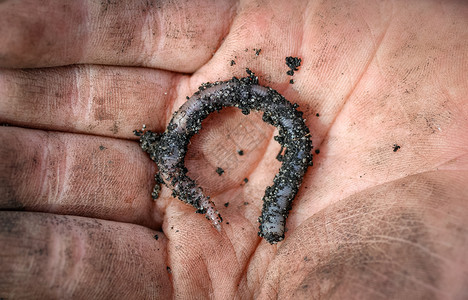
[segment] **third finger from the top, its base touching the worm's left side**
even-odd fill
[[[0,127],[0,208],[158,228],[155,167],[137,143]]]

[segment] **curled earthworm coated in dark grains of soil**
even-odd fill
[[[221,230],[222,218],[214,203],[201,187],[187,176],[184,165],[190,138],[201,129],[202,120],[223,107],[238,107],[248,115],[251,110],[263,112],[263,121],[278,128],[275,140],[285,149],[278,155],[282,161],[273,185],[263,197],[258,235],[271,244],[284,239],[285,223],[292,201],[298,192],[307,168],[312,164],[312,141],[302,118],[302,112],[280,93],[258,84],[253,73],[248,77],[233,77],[228,81],[205,83],[176,111],[162,134],[146,131],[141,135],[143,150],[156,162],[158,183],[172,189],[173,196],[191,204],[198,213],[204,213],[216,229]],[[158,189],[154,194],[157,196]]]

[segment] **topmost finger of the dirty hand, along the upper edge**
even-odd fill
[[[192,72],[228,30],[234,1],[0,3],[0,66],[76,63]]]

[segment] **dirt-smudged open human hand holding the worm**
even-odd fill
[[[0,2],[0,297],[468,297],[466,2],[162,2]],[[276,245],[257,236],[280,164],[260,115],[192,139],[221,232],[150,198],[132,133],[246,67],[320,149]]]

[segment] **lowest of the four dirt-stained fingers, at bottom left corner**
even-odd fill
[[[137,225],[27,212],[0,212],[0,224],[2,298],[171,296],[167,240],[160,233]]]

